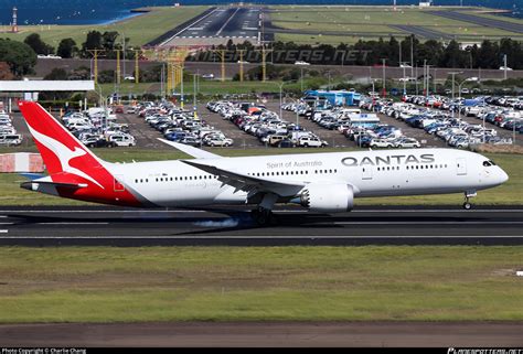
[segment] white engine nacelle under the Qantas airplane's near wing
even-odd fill
[[[348,184],[311,183],[301,191],[300,204],[312,212],[350,212],[354,206],[354,191]]]

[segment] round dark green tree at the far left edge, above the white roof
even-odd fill
[[[0,62],[8,63],[15,76],[22,76],[36,64],[36,54],[25,43],[0,39]]]

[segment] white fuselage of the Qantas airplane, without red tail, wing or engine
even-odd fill
[[[478,153],[451,149],[348,151],[193,160],[288,183],[348,184],[355,197],[470,193],[502,184],[506,173]],[[244,204],[247,193],[183,161],[107,164],[130,192],[157,206]]]

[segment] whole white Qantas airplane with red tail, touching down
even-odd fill
[[[259,225],[273,208],[296,203],[343,213],[354,199],[463,193],[509,180],[490,159],[455,149],[405,149],[225,158],[160,139],[193,159],[110,163],[97,158],[38,103],[19,101],[49,175],[21,187],[73,200],[131,207],[253,205]]]

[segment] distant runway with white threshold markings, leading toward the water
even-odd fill
[[[256,8],[216,8],[175,33],[161,45],[172,46],[182,42],[186,44],[185,40],[188,39],[204,39],[202,44],[216,39],[224,43],[230,39],[236,42],[246,40],[255,42],[259,35],[259,9]],[[198,44],[198,41],[193,44]]]

